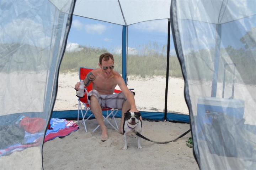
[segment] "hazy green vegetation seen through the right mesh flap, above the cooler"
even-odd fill
[[[224,65],[235,63],[235,82],[245,84],[256,84],[256,50],[255,49],[233,49],[228,46],[220,49],[218,65],[218,82],[223,82]],[[211,48],[192,51],[185,55],[188,77],[192,80],[212,81],[214,74],[215,49]],[[225,82],[233,80],[233,66],[226,67]]]

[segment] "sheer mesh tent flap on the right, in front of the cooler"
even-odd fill
[[[193,152],[200,169],[256,167],[256,136],[251,133],[256,125],[255,116],[252,116],[255,115],[255,109],[252,109],[255,108],[255,102],[249,102],[255,101],[255,95],[252,97],[244,94],[245,91],[250,91],[247,89],[248,84],[253,84],[252,91],[255,94],[255,79],[249,78],[256,68],[255,62],[250,62],[256,60],[255,47],[252,45],[254,43],[251,44],[251,49],[239,46],[242,38],[237,36],[248,34],[256,27],[255,3],[172,1],[172,34],[185,79],[185,98],[190,109]],[[246,12],[242,12],[241,8]],[[231,13],[236,14],[229,15]],[[245,17],[246,13],[250,15]],[[255,42],[253,36],[250,38]],[[243,50],[248,55],[236,56],[232,50],[229,51],[233,48]],[[244,61],[238,60],[239,57]],[[245,68],[242,63],[250,66]],[[226,72],[229,73],[229,79],[225,77]],[[246,83],[247,78],[252,80],[251,83]],[[207,81],[212,81],[210,97],[206,94],[209,88],[205,84]],[[231,88],[226,86],[226,81],[231,84]],[[193,89],[195,83],[201,89],[199,92]],[[234,85],[235,83],[238,86]],[[239,86],[246,90],[239,89]],[[229,96],[224,93],[228,88],[232,89]],[[251,116],[254,118],[251,119]],[[249,126],[250,130],[247,129]],[[223,159],[225,161],[222,161]]]

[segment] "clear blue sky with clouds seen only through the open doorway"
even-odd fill
[[[168,20],[164,19],[128,26],[128,50],[136,51],[154,42],[159,49],[162,48],[167,44],[167,24]],[[122,26],[73,16],[67,46],[70,44],[104,47],[110,52],[117,52],[122,47]]]

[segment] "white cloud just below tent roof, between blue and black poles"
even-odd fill
[[[145,30],[149,32],[156,31],[156,32],[163,32],[163,33],[168,32],[167,26],[168,26],[168,21],[165,19],[134,24],[135,29]]]

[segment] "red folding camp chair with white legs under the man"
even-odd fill
[[[85,67],[80,67],[79,68],[79,79],[80,80],[84,80],[86,78],[86,75],[93,69],[91,68],[85,68]],[[89,91],[92,90],[92,84],[90,84],[89,86],[86,87],[85,89],[85,92],[84,92],[84,97],[81,97],[81,98],[78,98],[78,123],[79,123],[79,111],[82,115],[82,120],[80,122],[80,124],[84,124],[85,126],[85,131],[87,132],[87,128],[86,128],[86,121],[88,119],[90,119],[93,115],[92,112],[89,112],[91,111],[90,109],[90,104],[89,104],[89,101],[88,101],[88,93]],[[114,93],[119,93],[121,92],[121,90],[114,90]],[[82,104],[84,104],[84,109],[82,108]],[[85,111],[85,114],[84,114],[84,111]],[[118,130],[118,125],[117,125],[117,122],[116,122],[116,119],[115,119],[115,116],[118,112],[118,109],[113,109],[113,108],[102,108],[102,111],[106,111],[106,115],[103,116],[103,120],[106,121],[108,124],[110,124],[116,131]],[[87,114],[90,114],[87,118],[86,118],[86,115]],[[110,119],[110,120],[109,120]],[[111,121],[114,121],[113,124],[111,123]],[[98,127],[100,127],[100,125],[98,125],[94,130],[97,130]]]

